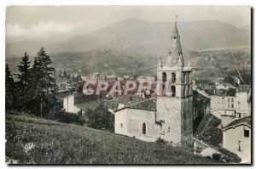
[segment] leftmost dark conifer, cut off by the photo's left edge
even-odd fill
[[[15,103],[15,81],[9,65],[5,65],[5,109],[12,110]]]

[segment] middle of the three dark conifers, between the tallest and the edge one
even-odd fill
[[[20,73],[18,74],[18,78],[20,81],[18,82],[18,108],[19,110],[27,110],[27,103],[28,103],[28,93],[30,89],[30,64],[28,55],[25,53],[24,56],[21,58],[20,65],[18,65],[18,70]]]

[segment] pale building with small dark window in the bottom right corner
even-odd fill
[[[223,128],[223,147],[241,158],[241,163],[251,163],[251,116],[232,121]]]

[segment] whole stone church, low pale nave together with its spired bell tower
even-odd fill
[[[160,92],[153,99],[116,110],[115,133],[149,142],[163,138],[173,146],[192,144],[193,91],[189,79],[192,70],[184,63],[177,22],[165,63],[160,59],[157,65]]]

